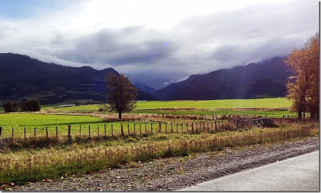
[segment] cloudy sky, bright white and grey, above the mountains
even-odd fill
[[[155,89],[286,56],[318,30],[319,0],[0,0],[0,53]]]

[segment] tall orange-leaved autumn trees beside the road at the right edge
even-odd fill
[[[284,60],[293,72],[287,84],[287,98],[293,101],[292,110],[298,117],[310,112],[311,118],[319,118],[319,32],[311,36],[302,49],[295,48]]]

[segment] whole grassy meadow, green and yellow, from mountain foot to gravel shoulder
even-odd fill
[[[124,163],[136,167],[138,161],[319,136],[317,121],[280,119],[273,127],[256,128],[236,127],[226,119],[226,115],[295,117],[288,111],[290,105],[286,98],[148,101],[138,102],[123,121],[116,113],[98,112],[98,105],[47,105],[37,113],[0,113],[0,184],[61,180]]]

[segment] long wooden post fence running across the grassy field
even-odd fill
[[[214,117],[214,116],[213,116]],[[274,122],[281,122],[282,120],[290,120],[291,118],[287,118],[286,116],[284,116],[285,118],[270,118],[270,119],[266,119],[266,118],[259,118],[257,120],[260,120],[261,124],[258,124],[257,122],[253,122],[253,120],[251,119],[223,119],[223,120],[211,120],[211,121],[206,121],[206,122],[192,122],[191,124],[186,123],[185,125],[183,123],[178,123],[176,122],[176,125],[173,126],[173,123],[170,122],[170,130],[169,132],[167,132],[167,122],[163,123],[163,122],[151,122],[151,126],[148,128],[147,127],[147,123],[145,122],[145,133],[142,133],[142,122],[138,122],[139,124],[139,133],[136,132],[136,123],[132,124],[132,128],[130,127],[130,124],[127,123],[127,134],[125,134],[124,132],[124,128],[123,128],[123,124],[124,123],[120,123],[120,132],[116,132],[114,131],[114,127],[113,124],[110,125],[110,134],[107,133],[107,125],[104,124],[104,135],[100,135],[99,133],[99,126],[97,125],[97,132],[96,132],[96,136],[94,136],[95,138],[107,138],[109,136],[114,137],[114,136],[131,136],[131,135],[142,135],[142,134],[157,134],[157,133],[201,133],[201,132],[220,132],[220,131],[226,131],[226,130],[237,130],[240,128],[245,128],[245,127],[249,127],[252,126],[254,123],[256,123],[256,125],[262,125],[263,127],[269,126],[269,125],[273,125]],[[289,117],[289,116],[288,116]],[[287,119],[286,119],[287,118]],[[261,120],[262,119],[262,120]],[[255,119],[256,120],[256,119]],[[158,130],[153,130],[153,126],[155,126],[155,124],[158,124],[159,128]],[[154,127],[155,128],[155,127]],[[164,129],[163,129],[164,128]],[[185,129],[184,129],[185,128]],[[174,130],[175,129],[175,130]],[[64,129],[62,129],[64,130]],[[72,130],[74,130],[74,132],[72,133]],[[67,142],[72,142],[72,140],[74,138],[79,138],[79,139],[84,139],[86,138],[86,136],[88,138],[92,137],[92,131],[91,131],[91,125],[88,125],[88,133],[86,133],[83,129],[82,129],[82,125],[79,125],[79,136],[76,134],[77,129],[75,129],[75,127],[71,127],[71,125],[68,125],[68,130],[67,130],[67,136],[64,135],[64,132],[58,132],[58,126],[55,127],[55,137],[50,137],[49,135],[49,130],[48,127],[45,127],[45,140],[48,141],[49,139],[52,140],[53,138],[55,138],[57,141],[59,139],[59,135],[60,134],[60,138],[67,138]],[[131,132],[132,130],[132,132]],[[14,132],[16,131],[16,132]],[[39,130],[40,131],[40,130]],[[41,133],[38,131],[37,133],[37,128],[34,127],[34,137],[33,137],[33,142],[36,143],[37,139],[38,140],[43,140],[43,133],[41,135]],[[14,143],[14,136],[18,135],[18,130],[14,130],[14,128],[12,127],[12,131],[11,131],[11,144]],[[5,134],[5,136],[4,136]],[[0,127],[0,146],[1,146],[1,141],[3,142],[3,140],[5,141],[5,139],[8,139],[8,136],[10,136],[10,134],[8,133],[8,131],[6,129],[3,129],[2,127]],[[23,142],[27,143],[27,132],[26,132],[26,127],[23,127]],[[85,137],[84,137],[85,136]],[[20,138],[22,138],[21,135],[19,135]],[[16,138],[19,138],[16,137]],[[31,138],[29,137],[29,143],[30,143]],[[17,140],[19,141],[19,140]],[[21,140],[20,140],[21,141]]]

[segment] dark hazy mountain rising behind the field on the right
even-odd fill
[[[290,72],[283,58],[191,75],[154,93],[161,100],[284,97]]]

